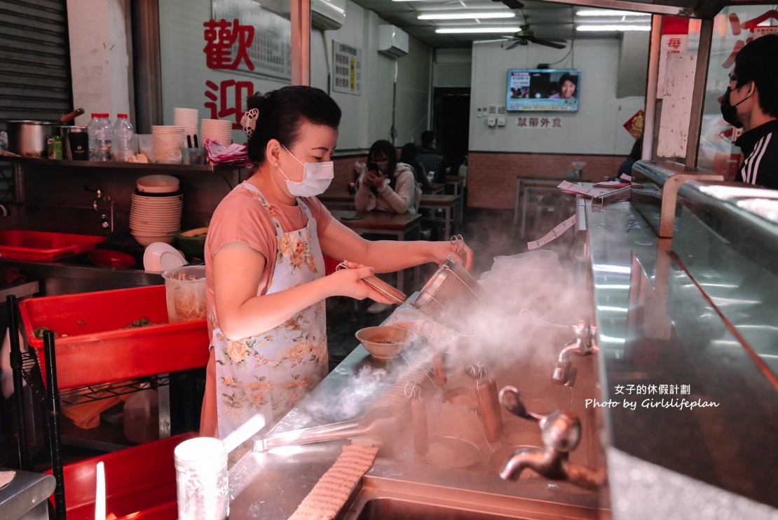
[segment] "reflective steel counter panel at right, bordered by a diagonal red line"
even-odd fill
[[[683,234],[629,202],[587,227],[614,518],[775,518],[778,392],[678,262]]]

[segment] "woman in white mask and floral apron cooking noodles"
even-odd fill
[[[219,203],[205,244],[212,339],[200,433],[219,438],[258,418],[275,423],[324,378],[326,297],[388,303],[361,280],[459,259],[449,242],[366,241],[316,199],[333,177],[341,118],[322,90],[287,86],[247,106],[254,172]],[[323,255],[352,269],[324,276]]]

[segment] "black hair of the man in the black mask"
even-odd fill
[[[745,44],[734,58],[737,86],[752,81],[762,112],[778,117],[778,34],[765,34]]]

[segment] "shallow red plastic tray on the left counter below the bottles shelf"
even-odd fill
[[[92,251],[105,237],[49,233],[47,231],[0,231],[0,256],[14,260],[54,260]]]

